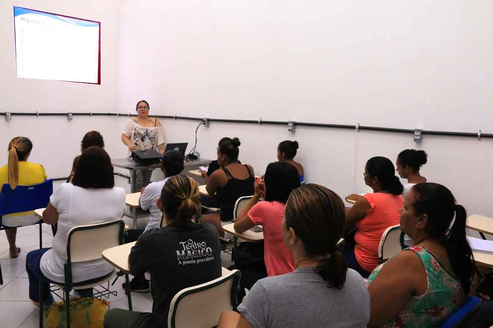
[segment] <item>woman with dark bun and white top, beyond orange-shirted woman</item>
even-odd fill
[[[423,150],[406,149],[399,153],[395,161],[396,171],[403,179],[407,179],[407,183],[403,186],[404,198],[406,197],[411,187],[418,183],[425,183],[426,178],[421,176],[420,168],[428,161],[428,155]],[[407,234],[404,234],[404,245],[412,246],[413,239]]]

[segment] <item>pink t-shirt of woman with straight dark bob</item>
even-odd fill
[[[293,254],[282,239],[284,204],[279,201],[260,201],[247,215],[253,224],[261,225],[264,229],[264,261],[267,275],[278,276],[293,271]]]

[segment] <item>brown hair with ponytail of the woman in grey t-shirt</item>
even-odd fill
[[[337,250],[337,242],[346,226],[344,203],[333,191],[316,184],[301,186],[291,192],[284,209],[286,229],[293,228],[308,255],[326,255],[316,272],[328,287],[342,289],[348,264]]]

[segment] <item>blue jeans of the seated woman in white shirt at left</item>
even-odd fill
[[[50,295],[50,283],[54,281],[46,278],[39,268],[41,257],[51,248],[36,249],[28,253],[26,257],[26,270],[29,276],[29,298],[35,302],[39,302],[39,284],[42,284],[44,299]]]

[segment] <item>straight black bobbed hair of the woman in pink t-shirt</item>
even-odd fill
[[[285,203],[289,194],[300,186],[296,168],[285,162],[274,162],[265,170],[265,200]]]

